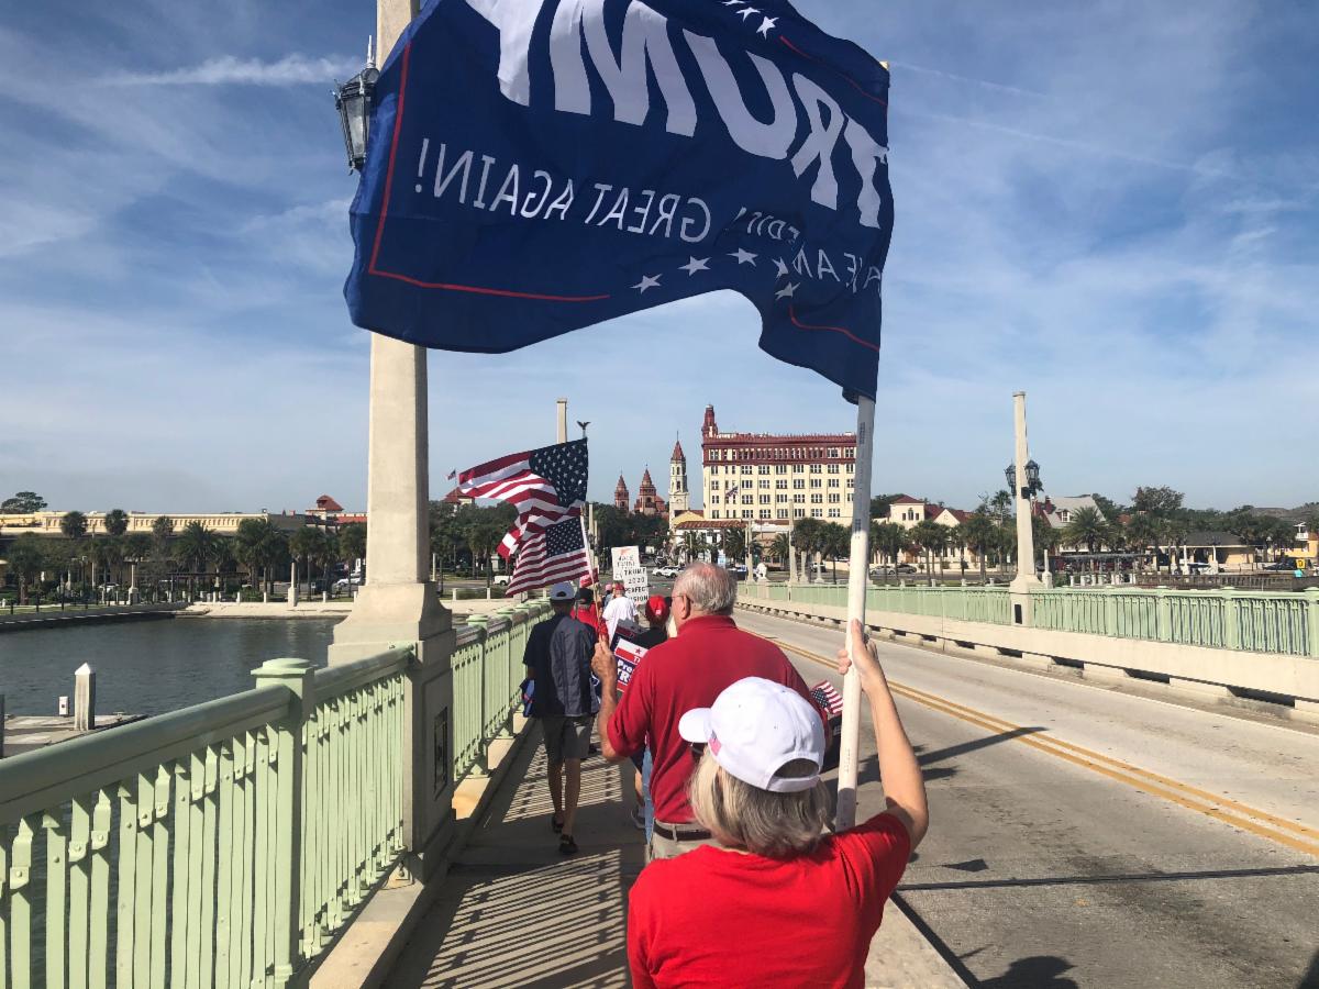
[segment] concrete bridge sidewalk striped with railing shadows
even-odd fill
[[[608,765],[599,756],[586,762],[575,835],[582,852],[565,858],[550,829],[545,748],[539,729],[533,724],[529,731],[532,736],[385,985],[559,989],[629,984],[628,890],[645,861],[644,836],[627,814],[632,765]],[[892,903],[871,945],[865,984],[964,986]]]

